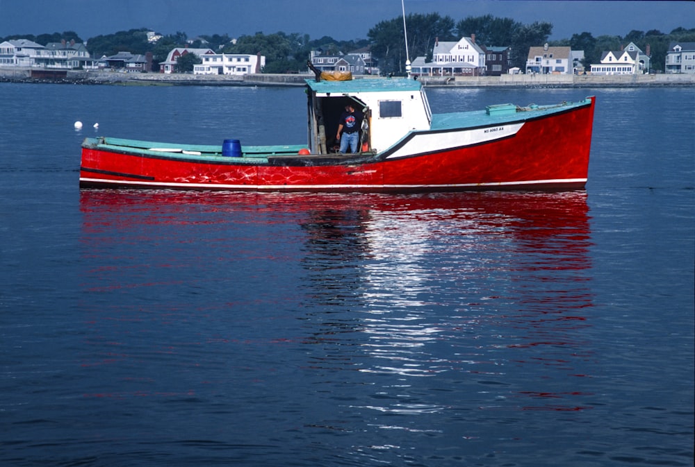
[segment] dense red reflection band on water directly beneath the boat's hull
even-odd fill
[[[585,239],[589,212],[587,194],[583,191],[322,194],[83,189],[80,192],[80,207],[85,214],[141,214],[142,221],[152,223],[214,222],[209,219],[192,221],[177,215],[178,211],[193,212],[196,209],[206,212],[295,213],[328,209],[407,211],[414,219],[429,219],[435,214],[438,219],[469,216],[481,220],[475,214],[498,214],[505,216],[505,226],[523,228],[525,234],[520,238],[526,239],[529,246],[557,235],[558,230],[562,230],[565,236],[575,235],[577,239]],[[85,220],[88,226],[94,228],[108,225],[100,223],[99,219]]]

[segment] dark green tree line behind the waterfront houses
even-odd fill
[[[513,66],[525,68],[528,49],[548,42],[551,46],[571,46],[572,50],[584,51],[584,66],[600,62],[603,51],[619,50],[630,42],[646,51],[649,44],[651,49],[651,66],[663,71],[669,43],[672,41],[695,42],[695,28],[676,28],[671,33],[664,34],[657,30],[630,31],[624,37],[618,35],[600,35],[594,37],[591,33],[583,32],[572,35],[569,39],[549,41],[553,33],[553,25],[548,22],[523,24],[510,18],[484,15],[466,17],[455,22],[450,16],[439,13],[426,15],[411,14],[406,16],[408,56],[410,60],[418,56],[432,59],[432,49],[436,40],[457,41],[461,37],[475,34],[475,42],[486,46],[510,46],[512,48]],[[261,53],[265,56],[265,73],[288,73],[306,71],[306,60],[312,50],[326,53],[347,53],[371,46],[372,56],[379,62],[383,73],[403,74],[406,61],[404,42],[403,17],[397,17],[377,23],[368,31],[367,39],[335,40],[324,36],[312,40],[308,34],[277,32],[272,34],[255,33],[242,35],[232,40],[229,35],[202,35],[193,41],[188,41],[186,33],[177,32],[163,35],[156,42],[147,40],[148,28],[131,29],[108,35],[97,35],[87,41],[87,49],[92,57],[112,56],[120,51],[142,54],[152,52],[154,64],[163,62],[167,54],[175,47],[188,44],[191,48],[209,48],[217,53]],[[41,35],[12,35],[3,37],[4,40],[24,38],[45,45],[49,42],[84,42],[74,31]],[[181,71],[193,69],[193,57],[179,64]]]

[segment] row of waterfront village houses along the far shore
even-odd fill
[[[156,40],[156,33],[148,33]],[[179,59],[195,54],[193,71],[182,72]],[[695,83],[695,42],[671,42],[661,79],[655,76],[650,46],[642,50],[634,42],[619,50],[603,51],[600,62],[584,65],[584,51],[569,46],[531,46],[525,69],[512,66],[511,46],[484,45],[475,34],[458,41],[436,38],[432,58],[418,56],[410,64],[410,74],[424,83],[465,85],[539,83],[637,82],[639,76],[651,76],[651,82]],[[370,48],[352,51],[311,51],[307,57],[320,71],[350,72],[353,76],[378,76],[379,62]],[[163,62],[154,63],[152,53],[145,55],[119,51],[113,56],[90,56],[87,45],[74,40],[38,44],[28,39],[0,43],[0,76],[14,80],[70,80],[91,77],[93,80],[162,80],[203,81],[218,83],[292,84],[306,76],[263,76],[265,56],[256,54],[218,53],[210,48],[175,47]],[[306,74],[311,75],[307,66]],[[120,75],[120,78],[115,78]],[[147,77],[145,77],[147,76]],[[620,77],[619,81],[609,79]],[[678,77],[678,78],[676,78]],[[475,78],[475,79],[471,79]],[[626,79],[627,78],[627,79]],[[664,80],[664,78],[666,78]],[[675,78],[675,79],[674,79]],[[641,82],[646,82],[641,78]]]

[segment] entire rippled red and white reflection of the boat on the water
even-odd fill
[[[227,327],[202,331],[208,342],[294,343],[294,384],[358,399],[342,411],[591,406],[583,191],[80,196],[90,294],[113,303],[126,289],[133,309],[172,307],[183,321],[216,314]],[[345,370],[375,392],[338,384]],[[463,391],[461,407],[439,390]],[[316,425],[329,422],[341,424]]]

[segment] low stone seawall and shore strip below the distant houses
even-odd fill
[[[45,70],[41,70],[45,71]],[[50,70],[49,70],[50,71]],[[0,83],[63,83],[76,85],[140,86],[303,86],[313,74],[250,74],[243,76],[116,71],[62,71],[51,77],[32,77],[32,69],[1,68]],[[370,76],[357,77],[370,79]],[[582,88],[582,87],[694,87],[695,74],[649,75],[502,75],[418,78],[425,87],[470,88]]]

